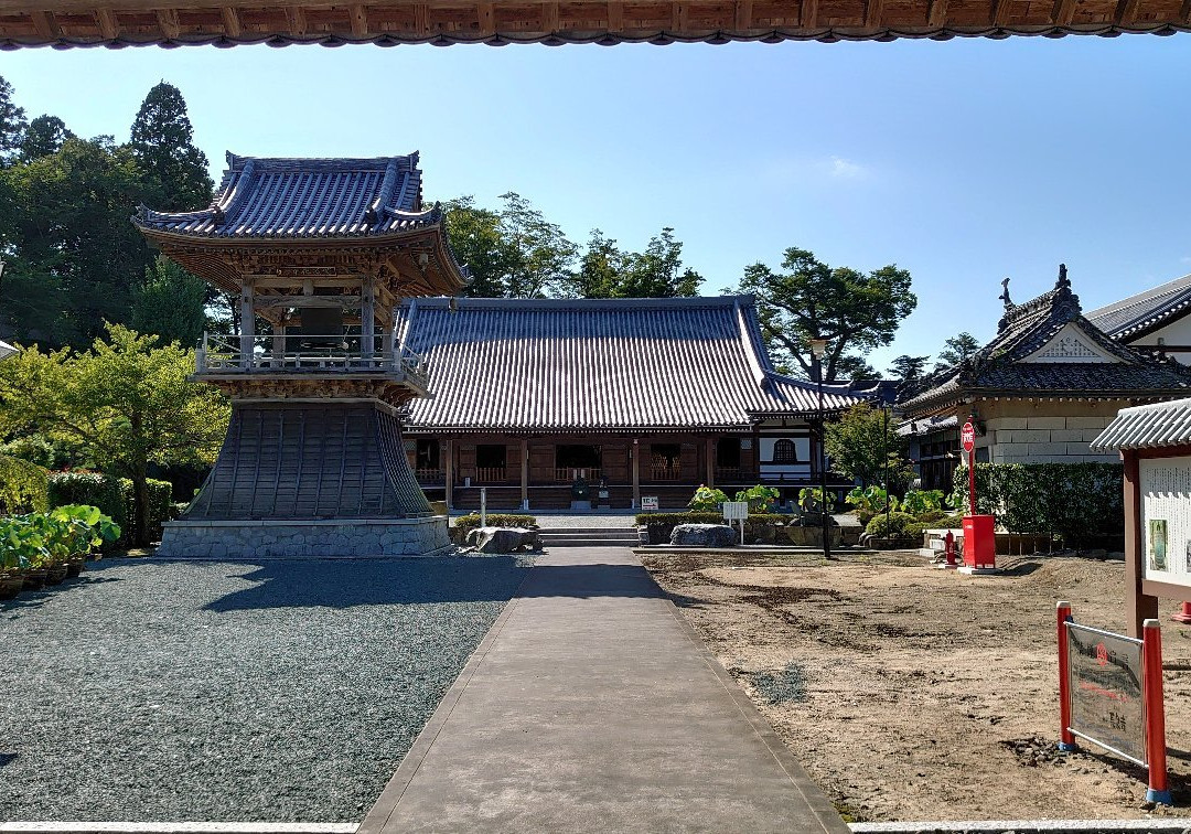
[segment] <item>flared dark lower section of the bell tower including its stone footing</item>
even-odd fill
[[[182,559],[418,556],[445,553],[406,460],[400,424],[375,399],[232,400],[216,465],[160,555]]]

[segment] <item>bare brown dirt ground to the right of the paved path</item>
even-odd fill
[[[1145,771],[1059,753],[1055,602],[1124,629],[1124,564],[1009,558],[999,577],[912,553],[642,560],[849,821],[1191,816],[1191,629],[1164,603],[1176,809]]]

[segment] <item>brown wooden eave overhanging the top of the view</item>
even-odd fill
[[[0,0],[0,49],[893,41],[1191,31],[1191,0]]]

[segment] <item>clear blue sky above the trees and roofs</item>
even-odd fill
[[[1060,261],[1084,309],[1191,272],[1191,37],[722,46],[25,50],[29,114],[127,136],[177,85],[218,176],[249,155],[422,151],[426,195],[517,191],[575,239],[663,225],[705,293],[786,247],[896,262],[919,303],[871,361],[981,341]]]

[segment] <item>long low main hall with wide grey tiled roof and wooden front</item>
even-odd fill
[[[785,499],[819,479],[818,416],[868,392],[779,374],[750,295],[616,300],[414,299],[399,341],[431,398],[405,430],[423,487],[453,506],[570,505],[582,477],[611,508],[681,508],[700,484]],[[846,492],[852,484],[830,475]]]

